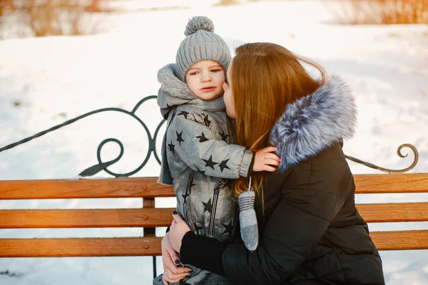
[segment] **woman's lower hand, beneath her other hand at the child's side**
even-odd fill
[[[178,259],[177,252],[175,252],[175,250],[171,246],[169,232],[167,232],[165,234],[165,237],[163,237],[161,246],[163,263],[163,284],[168,285],[168,282],[178,283],[181,279],[184,279],[186,276],[189,276],[190,274],[188,272],[192,269],[190,269],[189,267],[179,266],[180,259]]]

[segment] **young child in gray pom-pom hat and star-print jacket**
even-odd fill
[[[255,155],[243,146],[228,145],[232,138],[223,83],[231,55],[213,31],[207,17],[190,19],[175,63],[158,71],[158,105],[167,120],[158,182],[174,186],[177,212],[195,234],[223,241],[235,231],[236,203],[227,179],[275,168],[264,163],[272,158],[273,147]],[[230,284],[223,276],[189,267],[193,273],[180,284]],[[162,275],[153,284],[163,284]]]

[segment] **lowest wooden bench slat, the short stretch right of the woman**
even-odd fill
[[[370,232],[378,250],[428,249],[428,229]]]

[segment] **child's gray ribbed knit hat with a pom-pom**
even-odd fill
[[[195,16],[185,27],[185,38],[175,58],[175,76],[184,81],[185,73],[198,61],[216,61],[228,70],[232,56],[223,38],[214,33],[213,21]]]

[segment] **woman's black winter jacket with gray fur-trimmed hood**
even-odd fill
[[[249,252],[188,232],[184,264],[240,284],[384,284],[382,261],[355,207],[342,138],[355,130],[355,105],[340,78],[289,104],[271,132],[281,156],[256,200],[260,241]],[[238,224],[239,227],[239,224]]]

